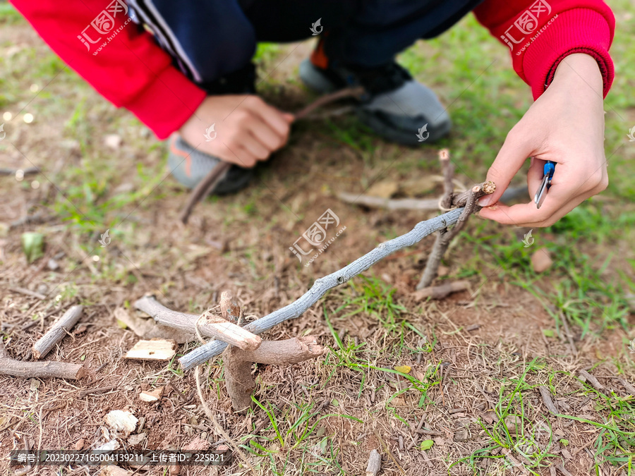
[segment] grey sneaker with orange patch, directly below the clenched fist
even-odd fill
[[[221,163],[221,159],[204,154],[184,141],[180,135],[170,138],[168,168],[179,183],[195,188],[202,178]],[[235,193],[245,188],[253,177],[253,169],[232,165],[224,178],[212,190],[214,195]]]

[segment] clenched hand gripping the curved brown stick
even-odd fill
[[[210,96],[183,124],[179,133],[201,152],[241,167],[266,160],[289,139],[292,114],[250,94]],[[205,131],[214,124],[207,138]],[[214,136],[215,134],[215,136]]]

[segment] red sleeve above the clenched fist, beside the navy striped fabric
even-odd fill
[[[131,23],[123,0],[11,1],[68,66],[159,138],[179,129],[205,99],[152,35]]]

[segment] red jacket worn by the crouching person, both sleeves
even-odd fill
[[[161,139],[181,128],[205,98],[205,92],[172,66],[152,35],[133,25],[121,22],[117,41],[100,49],[99,56],[87,52],[80,34],[104,9],[104,0],[11,2],[68,66]],[[598,61],[607,94],[614,74],[608,49],[615,18],[603,1],[485,0],[474,13],[510,48],[514,70],[531,86],[534,99],[551,82],[557,64],[578,52]],[[536,20],[538,26],[531,23]]]

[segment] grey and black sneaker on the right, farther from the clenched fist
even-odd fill
[[[356,109],[358,117],[392,142],[404,145],[435,142],[452,128],[452,121],[436,94],[413,80],[396,62],[377,68],[320,68],[306,59],[300,65],[300,78],[320,93],[363,86],[368,94]]]

